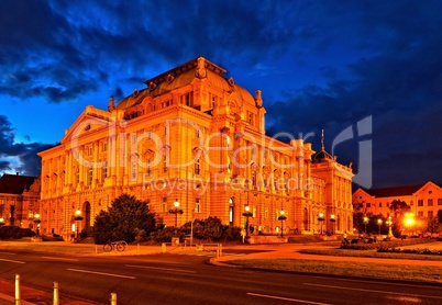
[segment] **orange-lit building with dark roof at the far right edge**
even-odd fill
[[[353,204],[364,214],[391,215],[389,210],[394,200],[404,201],[410,212],[421,218],[431,218],[442,210],[442,188],[431,181],[424,184],[373,189],[357,189],[353,193]]]

